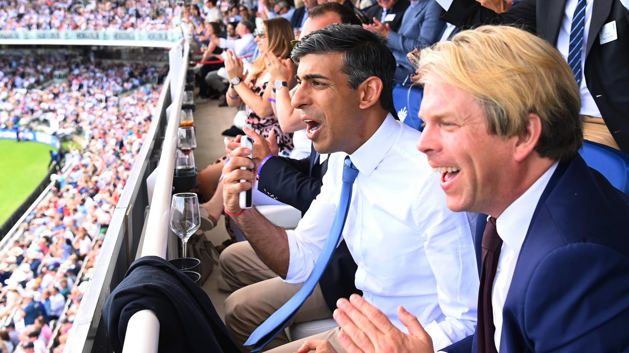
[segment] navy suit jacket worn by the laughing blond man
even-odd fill
[[[629,197],[581,156],[559,164],[516,263],[503,308],[501,353],[628,349],[628,215]],[[477,258],[482,230],[477,227]],[[446,350],[477,352],[476,335]]]

